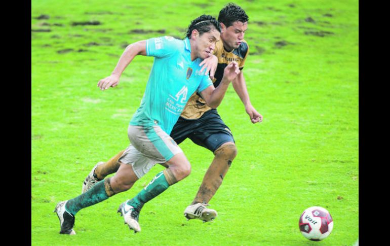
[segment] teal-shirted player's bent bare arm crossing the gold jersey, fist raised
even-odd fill
[[[201,96],[210,108],[216,109],[219,106],[229,83],[234,80],[239,73],[239,65],[236,61],[233,61],[225,67],[222,80],[217,88],[214,88],[214,86],[211,85],[201,92]]]

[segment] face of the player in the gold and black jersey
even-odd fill
[[[248,22],[235,21],[229,27],[221,23],[221,39],[226,50],[237,49],[244,39],[245,31],[248,29]]]

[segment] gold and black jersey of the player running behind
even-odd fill
[[[221,82],[223,71],[230,62],[236,61],[239,64],[240,70],[243,69],[248,53],[249,46],[245,40],[243,40],[237,49],[230,52],[224,49],[222,41],[219,40],[215,44],[215,49],[213,51],[213,54],[218,57],[218,66],[213,80],[214,87],[217,87]],[[205,100],[203,100],[198,93],[193,93],[180,116],[189,120],[199,119],[209,110],[211,110],[211,108],[207,106]]]

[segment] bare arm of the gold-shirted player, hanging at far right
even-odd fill
[[[261,122],[263,120],[263,116],[260,115],[256,109],[252,106],[251,100],[249,99],[249,94],[247,90],[247,85],[245,83],[245,78],[243,71],[239,75],[237,75],[236,79],[231,82],[233,88],[236,93],[239,95],[241,101],[245,106],[245,111],[249,115],[251,122],[253,124],[257,122]]]

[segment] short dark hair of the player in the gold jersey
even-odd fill
[[[226,27],[229,27],[235,21],[246,22],[249,17],[240,6],[228,3],[221,11],[219,11],[218,22],[222,22]]]

